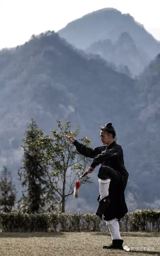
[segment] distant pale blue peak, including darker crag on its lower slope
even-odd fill
[[[160,53],[160,42],[142,24],[114,8],[86,14],[58,33],[73,46],[113,62],[117,71],[129,75],[128,68],[133,77]]]

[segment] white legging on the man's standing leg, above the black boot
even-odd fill
[[[106,221],[106,223],[108,223],[107,225],[108,225],[108,229],[111,233],[112,239],[121,239],[118,219],[114,218],[112,220]]]

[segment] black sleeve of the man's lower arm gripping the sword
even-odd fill
[[[99,164],[103,163],[106,159],[112,157],[113,155],[119,155],[122,154],[122,148],[111,148],[109,150],[104,150],[101,152],[101,154],[95,156],[93,158],[93,162],[91,163],[91,167],[95,168],[97,167]]]

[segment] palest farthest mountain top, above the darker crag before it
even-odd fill
[[[123,32],[128,32],[135,44],[153,59],[160,51],[160,43],[136,22],[130,14],[122,14],[114,8],[104,8],[67,24],[58,31],[61,37],[80,49],[93,42],[111,39],[115,43]]]

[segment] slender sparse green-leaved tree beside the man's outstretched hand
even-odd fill
[[[44,136],[43,130],[38,129],[39,138],[30,143],[29,147],[38,150],[39,161],[46,170],[52,188],[61,198],[59,202],[61,211],[65,212],[67,199],[74,192],[74,184],[86,168],[88,169],[86,166],[91,160],[79,154],[74,144],[65,137],[65,135],[78,136],[79,126],[76,127],[75,131],[71,131],[71,123],[67,121],[65,125],[61,125],[61,121],[57,120],[59,132],[57,129],[51,130],[53,137]],[[90,144],[90,141],[85,137],[80,141],[86,146]],[[87,182],[91,183],[88,176],[80,179],[80,185]]]

